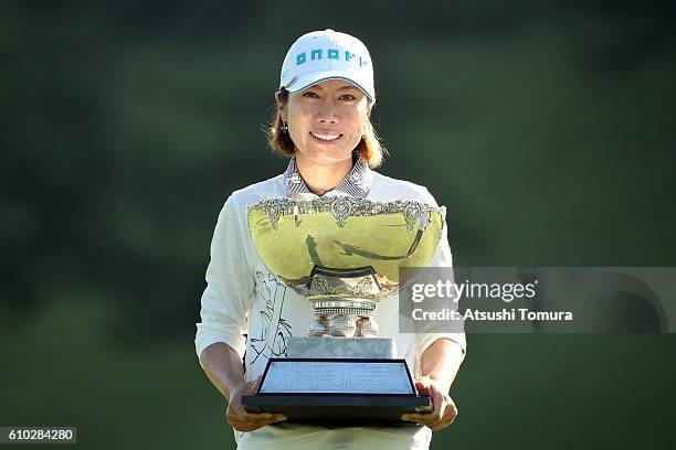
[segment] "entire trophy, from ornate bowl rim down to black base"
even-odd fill
[[[444,207],[347,196],[273,199],[249,207],[249,228],[266,267],[313,302],[307,336],[271,358],[249,411],[289,420],[398,421],[424,411],[394,341],[378,338],[380,300],[399,290],[399,269],[425,267],[436,251]],[[298,386],[298,379],[308,381]]]

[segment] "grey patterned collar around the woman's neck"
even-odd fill
[[[363,158],[359,157],[350,172],[334,191],[340,191],[351,196],[366,199],[371,190],[372,180],[373,172]],[[296,157],[292,157],[286,168],[286,172],[284,172],[284,184],[286,185],[286,196],[288,197],[294,196],[294,194],[311,194],[311,191],[307,188],[307,184],[305,184],[305,181],[298,172]]]

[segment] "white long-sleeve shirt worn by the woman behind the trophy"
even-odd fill
[[[293,163],[293,161],[292,161]],[[418,201],[433,206],[436,202],[423,186],[391,179],[368,170],[363,180],[367,199],[378,202]],[[341,190],[325,196],[347,195]],[[209,345],[223,342],[243,357],[249,382],[265,369],[270,357],[286,356],[286,341],[306,335],[314,319],[311,302],[287,288],[264,266],[249,233],[247,207],[264,199],[316,199],[309,192],[288,190],[286,174],[235,191],[225,201],[211,243],[211,261],[207,269],[207,289],[201,299],[201,322],[197,324],[198,356]],[[446,226],[430,266],[452,267]],[[466,350],[464,333],[399,333],[398,296],[378,303],[374,319],[380,335],[395,340],[414,376],[421,375],[421,356],[437,339],[456,342]],[[245,339],[245,335],[247,336]],[[244,356],[245,355],[245,356]],[[427,449],[431,430],[422,426],[399,427],[323,427],[278,422],[252,432],[235,431],[239,449]],[[273,447],[274,446],[274,447]]]

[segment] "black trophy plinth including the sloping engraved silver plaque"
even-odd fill
[[[342,426],[411,425],[403,414],[432,410],[403,358],[271,358],[256,395],[243,396],[242,405],[289,421]]]

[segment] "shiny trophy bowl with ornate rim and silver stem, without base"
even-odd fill
[[[310,335],[368,336],[378,333],[376,303],[399,289],[399,269],[430,264],[444,216],[419,202],[334,196],[265,200],[247,218],[265,266],[314,302]]]

